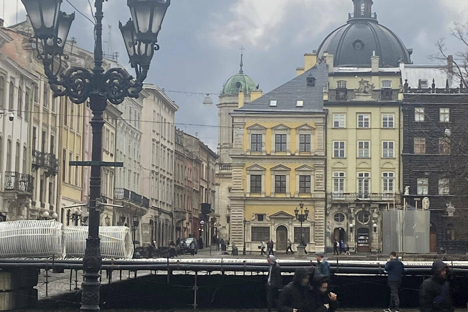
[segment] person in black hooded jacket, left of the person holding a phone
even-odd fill
[[[296,270],[294,279],[280,292],[278,311],[280,312],[315,312],[317,306],[312,288],[309,286],[311,270]]]

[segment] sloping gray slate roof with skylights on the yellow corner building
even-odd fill
[[[315,78],[314,87],[307,86],[310,76]],[[328,69],[323,62],[236,111],[323,112],[323,87],[327,85]],[[277,100],[277,106],[270,106],[270,100]],[[297,100],[304,100],[304,106],[297,107]]]

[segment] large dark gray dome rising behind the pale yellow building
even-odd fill
[[[369,10],[371,5],[372,1]],[[328,52],[333,54],[337,67],[371,67],[371,56],[375,51],[375,55],[380,57],[380,67],[398,67],[400,61],[411,63],[403,41],[394,32],[378,24],[375,13],[362,12],[355,17],[358,14],[359,11],[355,9],[355,13],[349,15],[347,24],[325,38],[317,51],[319,58]]]

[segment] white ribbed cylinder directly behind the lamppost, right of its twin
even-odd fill
[[[67,256],[83,258],[88,237],[88,226],[67,226],[65,228],[65,246]],[[130,229],[126,226],[99,226],[101,256],[103,258],[133,257],[133,242]]]

